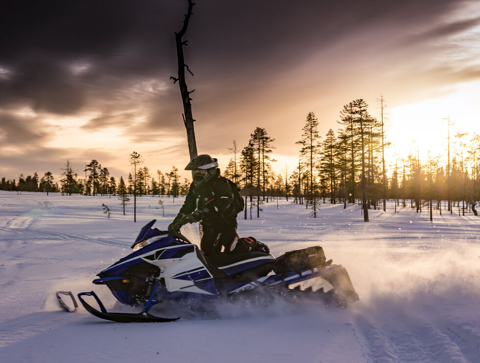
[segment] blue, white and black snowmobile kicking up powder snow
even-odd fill
[[[150,309],[167,302],[198,307],[219,299],[234,301],[258,294],[280,295],[290,300],[305,296],[338,308],[346,308],[359,299],[345,268],[327,261],[320,246],[290,251],[277,259],[252,251],[206,257],[181,233],[152,228],[155,222],[152,220],[142,228],[131,246],[131,254],[93,280],[95,285],[107,285],[121,304],[140,307],[142,311],[108,312],[94,291],[81,292],[78,299],[88,312],[117,322],[166,322],[178,317],[159,317],[151,314]],[[333,289],[314,291],[312,286],[301,289],[298,284],[317,278],[327,281]],[[70,296],[74,309],[68,308],[60,295]],[[64,310],[76,310],[70,292],[59,291],[56,296]],[[87,303],[86,296],[92,296],[100,310]]]

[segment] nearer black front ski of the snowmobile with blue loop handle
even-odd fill
[[[82,296],[93,296],[98,303],[101,311],[96,310],[91,307]],[[118,323],[165,323],[168,321],[175,321],[180,318],[163,318],[149,314],[148,312],[138,312],[138,313],[127,313],[127,312],[107,312],[102,302],[96,296],[96,293],[93,291],[90,292],[81,292],[78,294],[78,300],[82,303],[86,311],[90,312],[92,315],[99,317],[100,319],[116,321]]]

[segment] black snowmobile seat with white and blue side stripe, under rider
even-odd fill
[[[206,258],[223,273],[232,275],[264,276],[273,268],[275,258],[267,253],[249,251],[240,254],[217,253]]]

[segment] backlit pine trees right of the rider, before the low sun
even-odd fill
[[[259,217],[262,204],[275,197],[305,205],[313,217],[321,203],[342,203],[344,208],[358,205],[365,222],[370,209],[386,211],[387,200],[395,200],[395,212],[409,204],[418,212],[428,209],[432,218],[433,210],[441,213],[441,201],[445,201],[443,208],[449,213],[455,209],[460,215],[470,211],[477,215],[480,135],[474,134],[470,141],[466,133],[451,137],[452,122],[446,119],[446,165],[442,165],[441,155],[429,154],[422,162],[418,149],[386,165],[385,148],[390,144],[386,142],[383,96],[377,99],[377,106],[380,115],[373,117],[362,99],[345,104],[339,112],[339,129],[330,129],[323,138],[318,119],[309,112],[302,137],[296,142],[298,166],[290,172],[272,170],[274,139],[265,129],[257,127],[241,150],[234,141],[229,149],[233,157],[224,174],[242,190],[244,218],[251,219],[252,210]]]

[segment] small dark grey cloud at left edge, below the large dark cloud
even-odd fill
[[[0,112],[0,145],[28,146],[48,138],[48,132],[34,118],[18,117]]]

